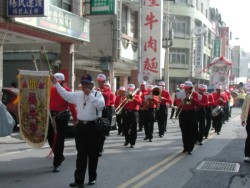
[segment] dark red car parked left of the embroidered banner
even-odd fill
[[[15,120],[14,130],[17,129],[19,123],[18,118],[18,89],[16,88],[2,88],[2,103],[7,107],[8,112]]]

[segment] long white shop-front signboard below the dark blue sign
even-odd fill
[[[15,18],[15,21],[77,40],[90,41],[88,19],[79,17],[53,5],[49,5],[48,17]]]

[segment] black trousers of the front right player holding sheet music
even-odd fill
[[[198,131],[197,114],[195,110],[182,110],[179,116],[183,148],[193,151]]]

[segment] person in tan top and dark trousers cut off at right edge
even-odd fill
[[[245,97],[245,100],[242,105],[241,124],[242,126],[246,126],[247,132],[244,161],[250,162],[250,94]]]

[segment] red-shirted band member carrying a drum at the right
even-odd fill
[[[214,97],[214,104],[213,104],[213,109],[218,108],[220,106],[222,109],[226,105],[226,98],[225,96],[221,93],[221,86],[216,87],[216,91],[212,93]],[[223,111],[223,110],[222,110]],[[215,132],[219,135],[222,127],[222,116],[223,112],[218,113],[217,116],[213,117],[213,127],[215,129]]]

